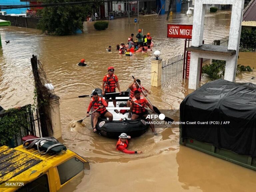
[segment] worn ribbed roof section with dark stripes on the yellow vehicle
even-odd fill
[[[33,167],[41,159],[21,151],[2,146],[0,148],[0,184]]]

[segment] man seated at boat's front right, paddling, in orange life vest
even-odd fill
[[[140,104],[143,107],[140,107],[137,104]],[[148,100],[145,99],[144,97],[140,96],[140,91],[136,90],[134,91],[134,97],[131,100],[131,107],[130,110],[132,111],[132,120],[134,119],[138,119],[139,117],[147,117],[147,115],[149,114],[148,111],[145,109],[146,105],[152,110],[152,113],[155,113],[152,105],[149,104]],[[149,126],[152,130],[153,133],[155,133],[155,135],[157,134],[155,132],[155,127],[154,124],[151,124],[152,120],[151,119],[146,119],[149,123]]]

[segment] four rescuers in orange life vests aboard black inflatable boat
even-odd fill
[[[93,117],[93,132],[96,133],[96,125],[98,122],[98,118],[108,118],[109,121],[113,120],[113,114],[110,113],[106,107],[108,107],[108,102],[110,98],[113,101],[114,107],[116,107],[116,95],[118,94],[113,94],[116,93],[116,88],[119,91],[119,95],[121,95],[121,89],[120,85],[118,82],[118,77],[114,74],[114,67],[110,66],[108,67],[108,74],[106,74],[103,77],[102,80],[102,95],[105,96],[105,99],[102,97],[99,97],[97,92],[92,93],[92,98],[91,102],[88,106],[87,109],[87,117],[90,115],[90,110],[93,108],[96,110],[94,112],[94,117]],[[137,82],[137,83],[136,83]],[[149,114],[148,111],[146,110],[145,107],[149,107],[153,113],[155,113],[152,105],[149,104],[148,100],[141,96],[141,93],[143,93],[144,96],[147,96],[147,94],[144,92],[147,91],[147,93],[150,94],[150,92],[145,89],[144,87],[140,88],[138,85],[140,85],[141,81],[139,79],[134,79],[134,81],[129,85],[129,88],[131,89],[130,91],[130,97],[129,100],[127,101],[127,107],[130,107],[129,111],[129,116],[128,118],[131,118],[132,120],[138,119],[140,117],[146,118],[146,116]],[[114,112],[119,113],[117,109],[114,110]],[[146,119],[147,121],[152,121],[151,119]],[[150,123],[150,128],[152,132],[155,132],[154,125]]]

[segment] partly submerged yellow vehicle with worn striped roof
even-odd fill
[[[89,163],[66,147],[58,154],[41,153],[23,145],[0,147],[0,191],[55,192],[82,171],[89,174]]]

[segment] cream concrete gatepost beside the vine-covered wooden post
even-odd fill
[[[56,139],[62,136],[59,99],[60,98],[58,96],[51,95],[50,104],[49,104],[49,112],[51,114],[51,119],[52,119],[53,133],[50,130],[48,130],[48,132],[49,132],[49,137],[55,137]]]

